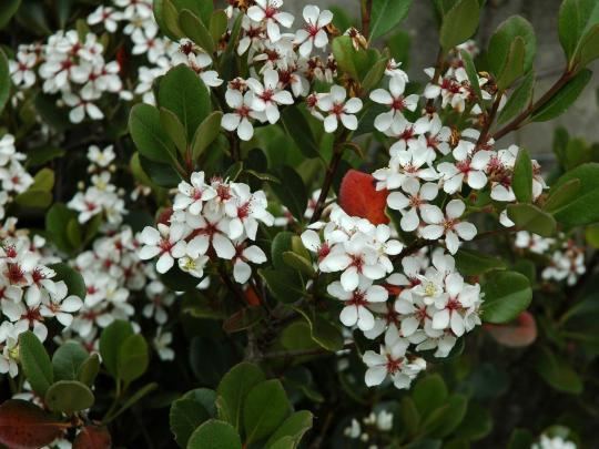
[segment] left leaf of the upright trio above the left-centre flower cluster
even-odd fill
[[[176,160],[175,147],[162,127],[156,108],[144,103],[135,104],[129,115],[129,131],[138,151],[144,157],[163,164]]]

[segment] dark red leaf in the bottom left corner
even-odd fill
[[[0,406],[0,442],[11,449],[41,448],[61,437],[70,422],[20,399],[9,399]]]

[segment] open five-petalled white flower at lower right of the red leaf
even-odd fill
[[[476,235],[474,224],[458,220],[465,210],[466,204],[460,200],[451,200],[447,203],[445,215],[437,206],[423,207],[422,217],[428,224],[422,229],[423,237],[435,241],[445,235],[445,246],[449,253],[456,254],[460,238],[471,241]]]

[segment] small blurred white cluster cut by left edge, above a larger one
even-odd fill
[[[21,164],[24,159],[26,155],[14,146],[14,136],[4,134],[0,139],[0,220],[4,218],[4,206],[33,184],[33,178]]]

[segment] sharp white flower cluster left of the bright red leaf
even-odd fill
[[[222,178],[209,184],[203,172],[193,173],[190,182],[179,184],[169,224],[146,226],[141,233],[140,257],[158,257],[159,273],[169,272],[176,259],[179,268],[199,279],[209,261],[232,261],[235,280],[245,284],[252,276],[250,263],[266,262],[264,252],[252,244],[260,223],[274,223],[266,195]]]

